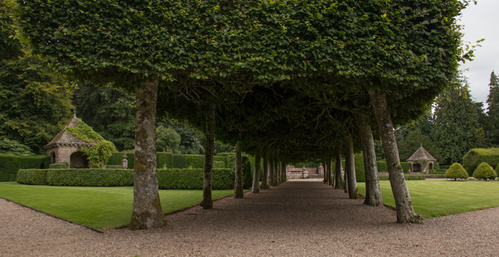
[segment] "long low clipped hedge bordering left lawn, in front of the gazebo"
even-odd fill
[[[17,182],[50,186],[132,186],[132,169],[29,169]],[[158,169],[160,189],[202,189],[202,169]],[[234,169],[213,169],[213,190],[233,189]]]

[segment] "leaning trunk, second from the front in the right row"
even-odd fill
[[[371,125],[367,123],[366,117],[357,114],[359,126],[360,143],[362,144],[362,154],[364,155],[364,170],[366,195],[364,204],[369,206],[383,206],[383,196],[378,181],[378,166],[376,165],[376,152],[374,152],[374,139]]]

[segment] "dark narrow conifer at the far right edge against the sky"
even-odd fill
[[[487,97],[487,136],[489,143],[499,145],[499,78],[492,71],[489,83],[489,96]]]

